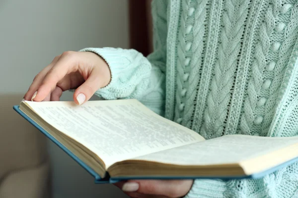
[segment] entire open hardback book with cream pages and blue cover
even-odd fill
[[[126,179],[260,178],[298,160],[298,137],[205,140],[135,99],[22,101],[14,109],[91,173]]]

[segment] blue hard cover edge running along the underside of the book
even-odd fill
[[[252,175],[244,175],[244,176],[212,176],[212,177],[169,177],[169,176],[160,176],[160,177],[117,177],[113,178],[110,177],[108,173],[106,173],[106,176],[104,178],[101,178],[99,174],[97,174],[92,168],[90,168],[88,165],[86,165],[82,160],[80,160],[74,153],[72,153],[68,148],[66,148],[64,145],[62,145],[59,141],[57,141],[53,136],[51,136],[47,131],[45,131],[41,126],[39,126],[36,122],[34,122],[30,117],[28,117],[25,113],[23,113],[18,105],[13,106],[13,109],[20,114],[23,118],[25,118],[29,123],[31,123],[34,127],[36,127],[40,132],[42,132],[47,138],[49,138],[52,142],[54,142],[58,147],[63,149],[69,156],[71,156],[74,161],[76,161],[82,168],[84,168],[89,174],[91,174],[96,184],[106,184],[106,183],[115,183],[121,180],[131,180],[131,179],[223,179],[223,180],[229,180],[229,179],[259,179],[262,178],[270,173],[273,173],[285,166],[288,166],[296,161],[298,161],[298,157],[294,158],[290,161],[287,161],[283,164],[280,164],[278,166],[275,166],[273,168],[270,168],[266,171],[255,173]]]

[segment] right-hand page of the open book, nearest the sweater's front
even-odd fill
[[[229,164],[238,163],[295,143],[298,143],[298,137],[270,138],[227,135],[179,148],[151,153],[135,159],[178,165]]]

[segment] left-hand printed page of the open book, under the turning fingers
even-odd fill
[[[27,104],[46,122],[111,164],[204,140],[134,99]]]

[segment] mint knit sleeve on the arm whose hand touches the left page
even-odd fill
[[[163,115],[165,100],[165,61],[167,0],[152,2],[153,52],[148,57],[134,49],[86,48],[108,63],[111,82],[96,91],[102,99],[138,99]],[[142,41],[140,41],[142,42]]]

